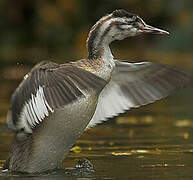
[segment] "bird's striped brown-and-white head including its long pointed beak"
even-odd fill
[[[144,33],[169,34],[167,31],[147,25],[138,15],[125,10],[115,10],[102,17],[88,35],[89,54],[100,45],[108,45],[114,40],[122,40],[130,36]]]

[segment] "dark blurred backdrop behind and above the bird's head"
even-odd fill
[[[192,0],[1,0],[1,66],[34,64],[47,58],[65,61],[85,57],[85,40],[91,26],[119,8],[138,14],[147,23],[164,28],[171,35],[114,43],[116,56],[130,58],[127,53],[133,49],[138,52],[135,56],[142,59],[146,50],[192,53]],[[119,53],[122,50],[126,54]]]

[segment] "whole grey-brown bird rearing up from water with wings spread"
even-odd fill
[[[29,173],[55,169],[86,128],[189,83],[191,75],[167,65],[114,60],[112,41],[144,32],[167,33],[117,10],[91,29],[87,58],[36,65],[12,95],[8,126],[15,137],[4,168]]]

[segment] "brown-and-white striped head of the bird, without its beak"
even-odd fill
[[[125,10],[116,10],[102,17],[89,33],[87,43],[111,43],[137,34],[134,22],[137,16]]]

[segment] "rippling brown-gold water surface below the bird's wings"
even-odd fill
[[[15,179],[192,179],[193,87],[88,130],[77,141],[63,163],[74,167],[87,158],[95,172],[71,176],[64,170],[42,175],[2,174],[0,180]],[[5,102],[7,103],[7,102]],[[5,120],[7,104],[1,108]],[[0,126],[0,167],[12,136]]]

